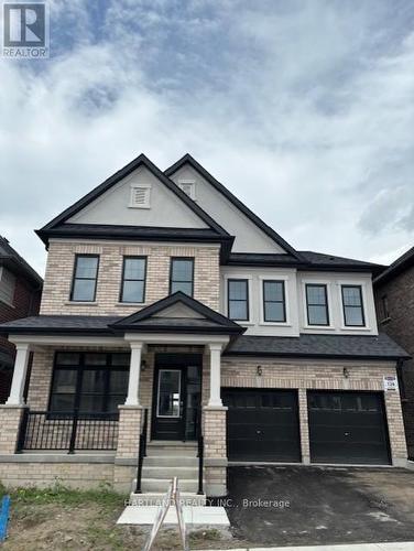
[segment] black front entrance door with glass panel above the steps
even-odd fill
[[[201,403],[201,355],[155,356],[153,440],[196,440]]]

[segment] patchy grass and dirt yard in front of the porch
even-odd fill
[[[4,488],[0,490],[3,495]],[[10,493],[11,518],[4,551],[116,551],[142,548],[148,530],[117,526],[123,497],[112,491],[21,489]],[[235,548],[241,544],[216,530],[190,533],[190,549]],[[181,549],[176,530],[162,530],[154,551]]]

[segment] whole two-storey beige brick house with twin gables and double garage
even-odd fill
[[[37,235],[41,313],[1,327],[3,483],[153,497],[177,474],[192,498],[229,463],[406,464],[383,267],[295,250],[188,154],[138,156]]]

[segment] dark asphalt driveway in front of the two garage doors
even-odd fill
[[[414,540],[414,472],[229,468],[227,512],[240,540],[312,545]]]

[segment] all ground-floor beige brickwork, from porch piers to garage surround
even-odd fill
[[[66,347],[65,349],[70,349]],[[101,350],[98,347],[83,349]],[[110,348],[113,350],[113,348]],[[109,350],[109,348],[108,348]],[[203,353],[203,347],[171,347],[151,346],[143,355],[145,369],[140,379],[140,402],[142,408],[149,410],[149,440],[151,439],[151,407],[153,400],[153,374],[154,358],[156,353]],[[34,353],[32,376],[29,392],[29,406],[36,409],[46,409],[51,378],[53,370],[53,348],[44,348]],[[262,368],[262,375],[258,375],[257,366]],[[348,370],[348,377],[344,377],[344,367]],[[282,359],[254,359],[222,357],[221,360],[221,386],[239,388],[280,388],[297,389],[299,404],[301,447],[303,464],[309,463],[309,437],[307,421],[307,396],[308,389],[340,389],[340,390],[370,390],[382,391],[383,376],[395,374],[394,363],[381,361],[315,361],[315,360],[282,360]],[[226,408],[206,407],[209,397],[209,356],[203,356],[203,433],[205,439],[205,482],[209,495],[222,495],[226,490],[227,476],[227,450],[226,450]],[[389,424],[392,462],[394,465],[403,466],[406,461],[406,445],[402,421],[400,397],[396,392],[385,392],[385,409]],[[3,420],[0,440],[0,455],[12,454],[15,447],[15,435],[19,425],[21,409],[0,409]],[[118,450],[111,461],[112,467],[105,467],[101,475],[90,476],[90,467],[85,464],[67,466],[42,467],[42,473],[47,474],[42,478],[34,477],[31,482],[30,473],[32,466],[28,464],[10,463],[8,471],[6,463],[0,463],[0,475],[4,483],[14,484],[19,469],[21,483],[33,484],[37,479],[42,485],[51,484],[58,479],[70,486],[81,485],[97,486],[102,479],[111,484],[120,491],[129,491],[135,474],[135,464],[139,451],[139,435],[142,426],[143,409],[137,407],[121,407],[119,421]],[[10,430],[9,430],[10,429]],[[14,437],[14,440],[13,440]],[[76,454],[75,454],[76,457]],[[47,464],[50,465],[50,464]],[[96,466],[95,468],[100,468]],[[41,479],[42,478],[42,479]],[[80,485],[80,486],[79,486]]]

